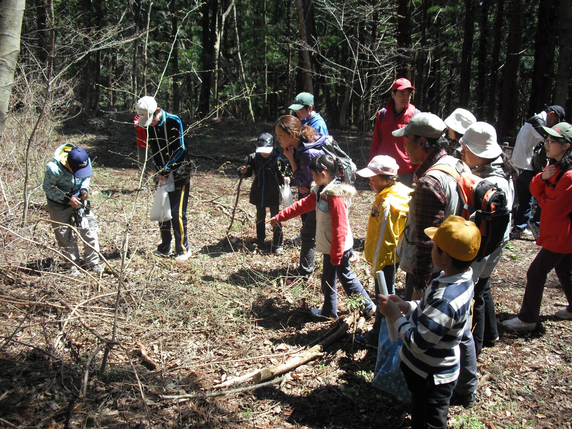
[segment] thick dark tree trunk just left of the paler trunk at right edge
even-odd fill
[[[533,116],[550,104],[552,76],[554,72],[554,50],[556,47],[558,0],[543,0],[538,6],[537,31],[534,41],[533,85],[530,88],[529,109],[526,117]]]

